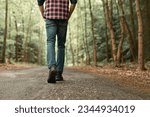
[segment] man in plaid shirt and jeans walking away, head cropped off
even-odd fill
[[[77,0],[37,0],[42,17],[46,22],[48,83],[63,81],[65,42],[68,20],[73,13]],[[45,3],[45,7],[44,7]],[[57,36],[57,60],[55,41]]]

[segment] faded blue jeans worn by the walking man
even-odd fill
[[[46,19],[48,68],[50,69],[51,66],[55,66],[56,70],[60,73],[63,73],[64,68],[67,24],[67,20]],[[56,36],[57,56],[55,54]]]

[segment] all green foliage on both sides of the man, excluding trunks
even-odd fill
[[[108,0],[110,1],[110,0]],[[8,33],[6,56],[12,61],[31,62],[45,64],[46,60],[46,35],[44,21],[39,12],[36,0],[9,0],[8,9]],[[115,33],[116,47],[118,47],[121,28],[120,15],[117,0],[112,0],[112,23]],[[133,2],[133,16],[135,17],[135,4]],[[106,62],[107,57],[111,62],[112,50],[110,33],[107,29],[103,4],[101,0],[91,0],[94,37],[96,38],[97,62]],[[129,1],[124,1],[125,18],[131,30]],[[5,26],[5,0],[0,1],[0,59],[3,50],[3,36]],[[144,7],[142,6],[142,9]],[[69,20],[66,42],[66,62],[73,64],[87,64],[87,60],[93,62],[93,36],[91,15],[88,0],[78,0],[77,7]],[[137,41],[137,20],[134,19],[134,41]],[[108,51],[106,50],[106,32],[108,33]],[[148,34],[146,34],[148,35]],[[136,42],[137,44],[137,42]],[[71,45],[71,46],[70,46]],[[71,48],[72,47],[72,48]],[[129,49],[129,34],[125,34],[122,54],[125,60],[131,58]],[[89,56],[88,56],[89,54]],[[89,64],[89,63],[88,63]]]

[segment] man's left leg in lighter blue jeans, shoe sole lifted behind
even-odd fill
[[[55,83],[56,60],[55,60],[55,41],[57,25],[55,20],[46,20],[47,32],[47,64],[49,71],[48,83]]]

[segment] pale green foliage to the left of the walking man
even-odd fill
[[[8,33],[6,57],[17,62],[45,64],[45,35],[43,19],[36,1],[8,1]],[[5,0],[0,1],[0,58],[3,50]],[[37,43],[39,42],[40,43]],[[42,52],[39,56],[39,47]],[[27,57],[25,56],[27,52]],[[25,57],[27,59],[25,59]],[[38,58],[40,57],[40,61]]]

